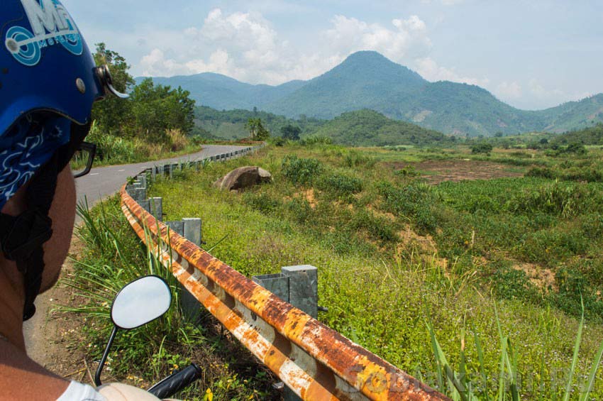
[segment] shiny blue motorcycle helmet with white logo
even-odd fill
[[[87,123],[104,85],[65,7],[58,0],[2,0],[0,16],[0,133],[38,110]]]

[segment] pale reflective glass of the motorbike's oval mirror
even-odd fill
[[[120,329],[134,329],[157,319],[170,309],[170,287],[160,277],[148,275],[123,287],[111,307],[111,319]]]

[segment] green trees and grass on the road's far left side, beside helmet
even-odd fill
[[[199,150],[203,139],[194,129],[194,100],[180,87],[172,89],[145,79],[135,85],[130,66],[118,53],[96,46],[98,65],[109,65],[114,86],[129,99],[108,96],[94,104],[87,141],[96,143],[95,165],[136,163]]]

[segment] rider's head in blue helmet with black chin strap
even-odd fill
[[[60,1],[2,0],[0,246],[23,276],[24,319],[65,258],[75,202],[66,166],[106,89],[109,70],[95,67]]]

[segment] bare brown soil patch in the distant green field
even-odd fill
[[[396,170],[402,170],[409,163],[392,163]],[[523,177],[519,172],[511,171],[509,165],[482,162],[477,160],[426,160],[410,163],[417,171],[423,172],[421,178],[437,185],[444,181],[491,180],[492,178]]]

